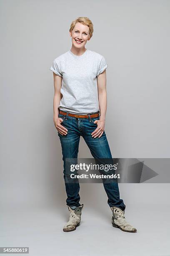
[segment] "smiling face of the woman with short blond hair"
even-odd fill
[[[80,22],[77,22],[69,33],[72,38],[72,45],[78,49],[84,48],[87,41],[90,40],[89,27]]]

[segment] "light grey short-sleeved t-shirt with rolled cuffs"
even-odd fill
[[[99,110],[97,77],[107,67],[102,55],[88,49],[81,56],[70,50],[58,56],[50,67],[62,77],[58,108],[80,115],[96,113]]]

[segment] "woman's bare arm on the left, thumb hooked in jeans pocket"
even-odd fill
[[[54,101],[53,101],[53,121],[57,131],[62,134],[67,134],[67,129],[62,126],[62,118],[58,118],[59,109],[58,105],[60,104],[60,100],[62,99],[62,94],[60,93],[61,85],[62,85],[62,77],[58,76],[53,72],[54,77]]]

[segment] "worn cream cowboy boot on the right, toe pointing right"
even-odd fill
[[[120,228],[122,231],[126,232],[137,232],[137,229],[132,225],[127,223],[124,213],[119,207],[112,206],[110,207],[112,211],[112,226],[115,228]]]

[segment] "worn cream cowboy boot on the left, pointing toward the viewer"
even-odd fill
[[[76,227],[80,224],[81,212],[83,208],[83,205],[80,205],[73,210],[72,208],[70,208],[69,205],[67,206],[70,212],[70,218],[69,218],[69,221],[64,225],[63,231],[65,232],[75,230]]]

